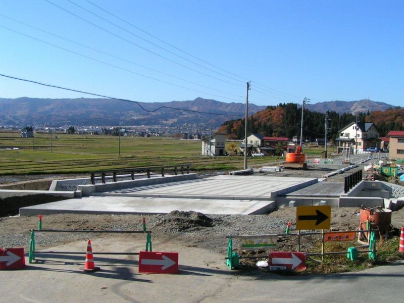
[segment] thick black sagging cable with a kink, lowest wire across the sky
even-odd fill
[[[15,79],[15,80],[20,80],[20,81],[30,82],[30,83],[34,83],[34,84],[39,84],[39,85],[43,85],[43,86],[54,87],[54,88],[59,88],[59,89],[64,89],[64,90],[69,90],[69,91],[74,91],[74,92],[85,93],[85,94],[89,94],[89,95],[93,95],[93,96],[98,96],[98,97],[103,97],[103,98],[109,98],[109,99],[120,100],[120,101],[124,101],[124,102],[135,103],[135,104],[137,104],[143,111],[145,111],[145,112],[147,112],[147,113],[154,113],[154,112],[157,112],[157,111],[159,111],[159,110],[161,110],[161,109],[169,109],[169,110],[175,110],[175,111],[183,111],[183,112],[191,112],[191,113],[207,114],[207,115],[216,115],[216,116],[229,116],[229,117],[241,117],[241,116],[243,116],[243,115],[219,114],[219,113],[210,113],[210,112],[186,110],[186,109],[179,109],[179,108],[173,108],[173,107],[168,107],[168,106],[161,106],[161,107],[159,107],[159,108],[157,108],[157,109],[155,109],[155,110],[153,110],[153,111],[149,111],[149,110],[146,110],[144,107],[142,107],[142,105],[141,105],[139,102],[134,101],[134,100],[116,98],[116,97],[111,97],[111,96],[107,96],[107,95],[102,95],[102,94],[97,94],[97,93],[82,91],[82,90],[78,90],[78,89],[62,87],[62,86],[53,85],[53,84],[46,84],[46,83],[42,83],[42,82],[38,82],[38,81],[34,81],[34,80],[28,80],[28,79],[18,78],[18,77],[14,77],[14,76],[5,75],[5,74],[0,74],[0,76],[6,77],[6,78],[10,78],[10,79]]]

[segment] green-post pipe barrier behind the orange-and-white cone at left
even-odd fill
[[[153,251],[151,246],[151,231],[146,230],[145,219],[143,218],[143,230],[73,230],[73,229],[42,229],[42,215],[39,215],[38,229],[31,229],[31,240],[29,247],[29,263],[35,260],[35,255],[85,255],[86,252],[79,251],[44,251],[35,249],[35,232],[62,232],[62,233],[145,233],[146,249]],[[139,255],[139,252],[93,252],[94,255]]]

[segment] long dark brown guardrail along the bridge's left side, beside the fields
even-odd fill
[[[128,178],[127,176],[130,174],[130,179],[135,180],[135,177],[139,176],[147,176],[150,178],[151,175],[161,175],[164,177],[166,173],[174,173],[174,175],[184,173],[189,174],[191,165],[177,165],[177,166],[152,166],[152,167],[137,167],[137,168],[128,168],[128,169],[116,169],[116,170],[108,170],[108,171],[94,171],[91,172],[90,183],[94,185],[96,183],[96,179],[101,179],[102,183],[105,183],[106,179],[111,178],[113,182],[118,182],[118,179]]]

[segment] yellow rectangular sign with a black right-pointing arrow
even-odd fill
[[[330,229],[331,206],[296,207],[296,229]]]

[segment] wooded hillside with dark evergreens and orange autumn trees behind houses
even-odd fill
[[[357,117],[352,114],[338,114],[335,111],[328,113],[328,139],[338,137],[338,130],[345,125],[355,122]],[[386,111],[375,111],[372,113],[358,114],[358,121],[374,122],[385,136],[390,130],[404,130],[404,109],[394,108]],[[296,104],[279,104],[269,106],[265,110],[257,112],[248,118],[248,133],[261,133],[267,136],[300,136],[301,108]],[[223,123],[218,132],[228,135],[228,138],[244,138],[245,119],[230,120]],[[311,112],[305,109],[304,112],[304,137],[324,138],[325,135],[325,114]]]

